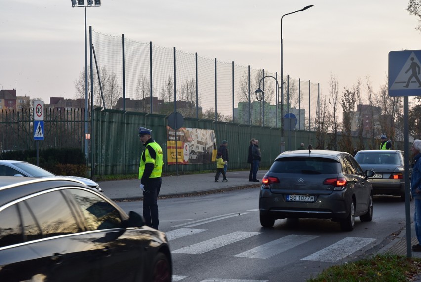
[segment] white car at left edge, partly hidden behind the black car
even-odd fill
[[[90,188],[103,193],[99,184],[89,178],[79,176],[59,176],[39,166],[22,161],[0,160],[0,176],[25,176],[25,177],[66,177],[82,181]]]

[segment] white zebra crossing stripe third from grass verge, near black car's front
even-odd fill
[[[172,251],[172,253],[175,254],[203,254],[206,252],[209,252],[211,250],[241,241],[243,239],[259,235],[261,232],[243,232],[243,231],[237,231],[233,232],[227,235],[219,236],[213,239],[209,239],[188,247],[184,247],[175,251]]]

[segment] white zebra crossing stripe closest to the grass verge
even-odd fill
[[[376,239],[373,238],[346,237],[327,248],[302,258],[301,260],[337,262],[338,260],[341,260],[362,249],[375,240]]]

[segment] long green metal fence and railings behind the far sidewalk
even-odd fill
[[[90,142],[88,163],[92,175],[122,175],[138,172],[143,147],[138,137],[138,127],[153,130],[153,138],[164,151],[165,173],[183,173],[215,169],[214,163],[208,164],[167,164],[168,118],[164,115],[127,112],[120,110],[96,109],[92,120],[84,120],[82,110],[53,110],[44,112],[44,140],[39,141],[40,149],[80,148],[84,151],[84,124],[88,122]],[[260,141],[262,167],[269,167],[273,160],[284,150],[295,150],[301,143],[317,146],[316,132],[285,131],[282,138],[280,128],[250,126],[237,123],[213,122],[211,120],[185,118],[183,127],[211,129],[215,131],[217,146],[222,140],[228,141],[229,169],[247,169],[247,153],[251,138]],[[0,111],[0,149],[35,149],[33,115],[31,110]],[[340,139],[340,136],[338,136]],[[357,144],[352,137],[352,143]],[[373,149],[372,141],[364,139],[365,149]],[[403,144],[395,142],[394,149],[402,149]],[[339,148],[340,149],[340,148]]]

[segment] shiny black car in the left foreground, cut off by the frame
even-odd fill
[[[0,227],[0,281],[171,281],[165,233],[75,179],[0,177]]]

